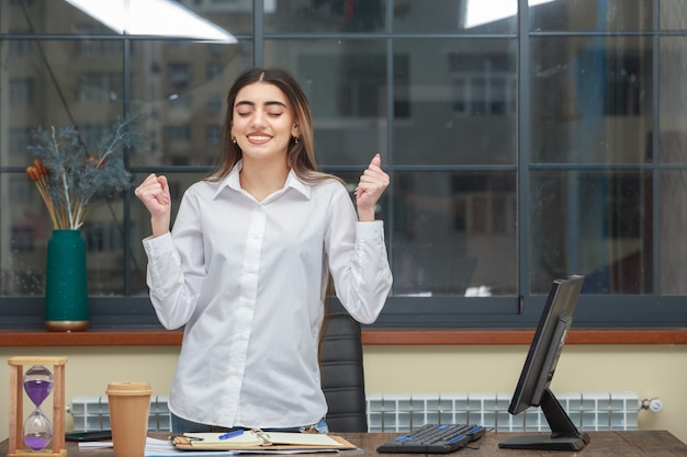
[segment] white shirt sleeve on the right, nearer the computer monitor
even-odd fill
[[[341,186],[329,208],[325,239],[336,295],[361,323],[376,320],[393,284],[382,220],[360,222]]]

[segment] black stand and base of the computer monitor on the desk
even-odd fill
[[[579,450],[589,443],[589,435],[577,430],[570,415],[548,388],[541,397],[540,405],[551,427],[551,435],[513,436],[498,443],[498,447],[504,449]]]

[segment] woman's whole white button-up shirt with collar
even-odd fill
[[[146,238],[158,319],[184,328],[169,408],[204,424],[286,427],[318,422],[318,333],[327,269],[362,323],[392,285],[382,221],[359,222],[346,187],[293,171],[262,202],[240,188],[239,163],[185,192],[171,233]]]

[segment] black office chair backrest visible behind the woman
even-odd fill
[[[367,432],[360,323],[333,300],[323,332],[319,368],[329,431]]]

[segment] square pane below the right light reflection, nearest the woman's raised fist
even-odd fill
[[[398,41],[394,52],[396,163],[515,163],[515,41]]]

